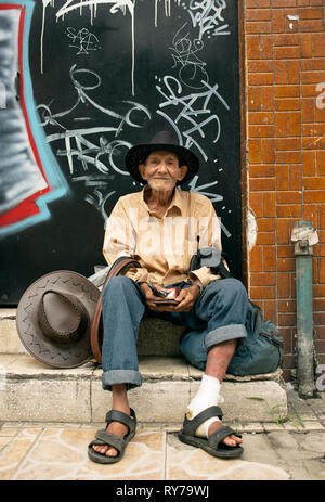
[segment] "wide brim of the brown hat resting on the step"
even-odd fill
[[[87,327],[78,340],[62,344],[43,335],[38,322],[38,306],[47,289],[75,295],[83,305]],[[91,321],[100,298],[100,289],[83,275],[68,270],[50,272],[35,281],[22,296],[16,313],[17,332],[26,350],[53,368],[77,368],[90,361]]]

